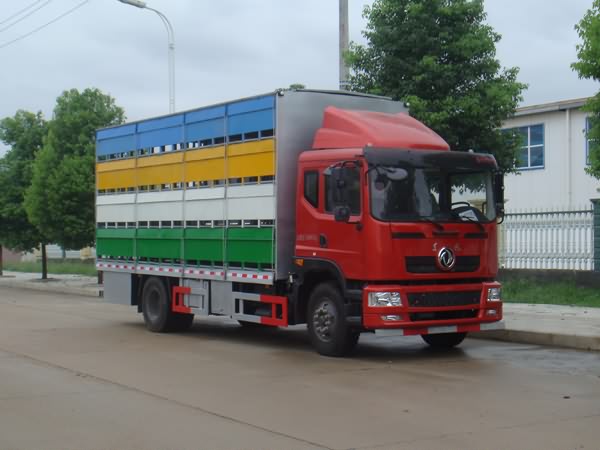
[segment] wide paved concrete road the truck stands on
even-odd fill
[[[197,320],[146,332],[131,308],[0,288],[0,448],[598,448],[600,354],[361,338]]]

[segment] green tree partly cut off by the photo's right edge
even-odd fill
[[[600,0],[594,0],[575,29],[582,43],[576,47],[578,61],[571,64],[571,68],[578,73],[579,78],[600,81]],[[590,142],[590,165],[585,170],[595,178],[600,178],[600,91],[588,99],[582,109],[590,113],[587,135]]]

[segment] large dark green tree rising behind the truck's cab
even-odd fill
[[[364,16],[367,45],[346,55],[351,88],[407,102],[453,150],[490,152],[512,170],[517,137],[500,128],[526,85],[496,59],[483,0],[375,0]]]

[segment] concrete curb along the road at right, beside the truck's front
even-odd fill
[[[524,330],[498,330],[470,333],[476,339],[488,339],[519,344],[547,345],[577,350],[600,351],[600,336],[578,336],[571,334],[536,332]]]

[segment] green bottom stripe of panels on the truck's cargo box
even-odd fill
[[[272,228],[107,228],[96,231],[96,248],[98,255],[112,257],[273,264],[273,233]]]

